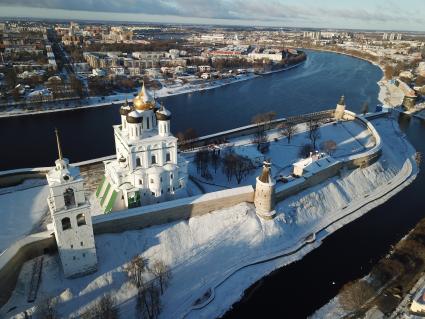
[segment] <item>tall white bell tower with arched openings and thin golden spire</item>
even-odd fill
[[[90,204],[80,170],[62,157],[58,131],[55,133],[59,159],[46,174],[50,187],[47,203],[65,277],[77,277],[97,269]]]

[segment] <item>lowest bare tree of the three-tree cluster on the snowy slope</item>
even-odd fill
[[[161,312],[161,299],[158,287],[149,283],[139,288],[136,309],[140,318],[157,319]]]

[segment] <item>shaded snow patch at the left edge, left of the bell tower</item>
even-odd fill
[[[47,215],[46,182],[28,180],[21,185],[0,189],[0,254],[7,247],[39,226]]]

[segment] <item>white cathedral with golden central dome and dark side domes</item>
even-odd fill
[[[114,125],[116,159],[105,161],[105,175],[96,197],[104,213],[186,196],[188,162],[177,153],[171,134],[171,113],[159,106],[143,84],[120,108]]]

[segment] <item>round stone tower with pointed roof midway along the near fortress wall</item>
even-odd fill
[[[272,219],[276,212],[274,211],[276,182],[271,176],[271,163],[264,161],[263,171],[257,177],[255,185],[254,205],[257,215],[264,219]]]

